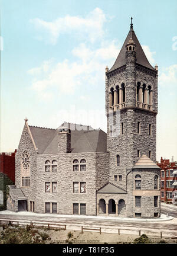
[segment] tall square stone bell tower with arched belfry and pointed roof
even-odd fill
[[[158,66],[150,65],[131,18],[129,33],[114,65],[106,67],[110,183],[128,190],[127,175],[136,162],[143,155],[156,162],[156,114]]]

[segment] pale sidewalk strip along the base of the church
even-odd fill
[[[34,213],[34,212],[11,212],[8,210],[1,211],[0,212],[0,218],[1,216],[6,215],[14,215],[14,216],[34,216],[34,217],[51,217],[51,220],[55,217],[61,217],[61,218],[76,218],[76,219],[105,219],[105,220],[117,220],[117,221],[129,221],[129,222],[159,222],[159,221],[166,221],[166,220],[172,220],[174,219],[171,216],[167,216],[164,214],[161,214],[159,218],[155,219],[138,219],[138,218],[128,218],[128,217],[112,217],[112,216],[88,216],[88,215],[58,215],[58,214],[50,214],[50,213]]]

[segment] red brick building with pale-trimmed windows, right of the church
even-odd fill
[[[177,204],[177,162],[161,157],[157,165],[161,169],[161,201]]]

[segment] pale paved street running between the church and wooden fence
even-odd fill
[[[169,207],[162,206],[163,212],[166,208],[168,211],[175,215],[176,209],[170,209]],[[162,232],[163,237],[177,237],[177,218],[166,221],[139,221],[138,219],[119,220],[119,219],[99,219],[97,217],[85,218],[85,217],[67,217],[67,216],[56,216],[56,215],[30,215],[28,212],[25,213],[14,213],[14,214],[3,214],[0,212],[0,219],[9,220],[19,220],[24,222],[24,224],[32,222],[42,222],[42,223],[57,223],[67,225],[67,229],[81,230],[81,226],[85,228],[100,228],[101,232],[106,233],[117,233],[120,229],[120,233],[135,234],[139,233],[139,230],[146,235],[160,236]]]

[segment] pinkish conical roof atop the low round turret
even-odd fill
[[[132,169],[160,169],[160,167],[148,158],[148,156],[142,155]]]

